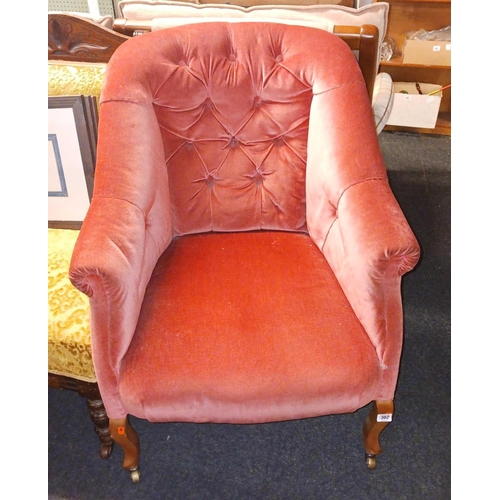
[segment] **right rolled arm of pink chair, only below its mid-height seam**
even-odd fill
[[[322,250],[384,369],[379,399],[392,399],[403,336],[401,276],[417,264],[420,248],[386,179],[343,193]]]

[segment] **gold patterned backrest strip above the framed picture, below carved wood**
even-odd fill
[[[99,103],[105,72],[105,63],[49,61],[49,96],[91,95]]]

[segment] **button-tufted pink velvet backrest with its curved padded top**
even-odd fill
[[[370,117],[359,66],[336,36],[272,23],[207,23],[119,47],[108,64],[101,115],[121,103],[135,106],[130,113],[154,111],[174,235],[307,231],[309,136],[324,133],[310,131],[311,106],[333,92],[345,113],[350,91],[335,91],[346,86]]]

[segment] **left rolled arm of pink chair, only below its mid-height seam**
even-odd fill
[[[137,325],[157,248],[137,207],[113,198],[94,199],[71,259],[69,277],[90,299],[95,372],[111,418],[121,415],[115,398],[119,360]]]

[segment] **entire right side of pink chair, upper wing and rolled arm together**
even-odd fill
[[[359,82],[314,96],[307,161],[309,232],[377,352],[379,399],[392,399],[403,334],[401,276],[420,249],[389,186]]]

